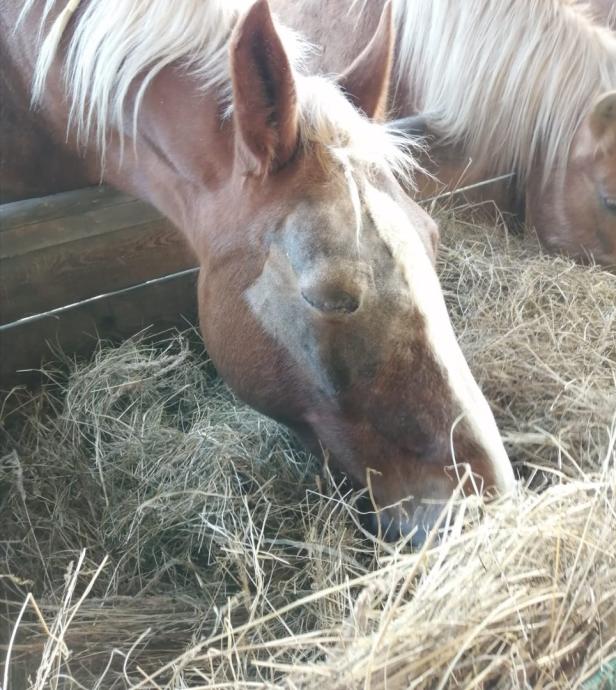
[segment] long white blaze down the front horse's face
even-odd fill
[[[409,298],[425,321],[429,347],[447,373],[452,397],[474,440],[491,460],[496,488],[507,492],[515,486],[513,469],[494,421],[494,415],[458,345],[438,277],[426,248],[398,204],[387,194],[365,184],[365,202],[383,241],[399,262],[409,288]]]

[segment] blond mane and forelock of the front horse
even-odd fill
[[[22,17],[37,2],[42,0],[27,0]],[[147,86],[172,63],[183,64],[203,90],[214,90],[221,112],[229,115],[229,39],[238,18],[253,2],[82,0],[64,60],[69,125],[76,128],[79,139],[95,137],[104,156],[110,127],[126,133],[128,107],[134,137]],[[55,25],[48,21],[58,3],[63,6],[63,0],[46,0],[44,7],[33,81],[35,103],[43,98],[62,38],[58,20]],[[46,23],[49,28],[43,28]],[[385,166],[408,178],[415,167],[408,140],[361,117],[333,80],[301,76],[306,44],[291,30],[280,25],[278,29],[296,71],[304,142],[324,146],[333,154],[330,159],[343,164],[347,176],[352,164]]]

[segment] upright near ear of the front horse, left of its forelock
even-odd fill
[[[299,134],[293,70],[267,0],[257,0],[235,28],[231,75],[238,144],[264,175],[289,161]]]

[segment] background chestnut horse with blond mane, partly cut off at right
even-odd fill
[[[331,71],[368,40],[382,5],[274,0],[322,47],[313,66]],[[470,202],[526,220],[548,250],[616,264],[616,36],[600,24],[614,21],[613,0],[394,0],[394,10],[390,117],[427,142],[420,198],[471,188]]]

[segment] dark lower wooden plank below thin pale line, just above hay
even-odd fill
[[[99,338],[120,341],[147,327],[157,333],[195,324],[196,295],[196,272],[184,272],[1,327],[0,390],[36,386],[36,370],[54,349],[88,356]]]

